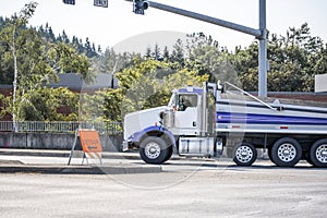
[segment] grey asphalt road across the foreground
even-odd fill
[[[158,173],[1,173],[0,217],[327,217],[327,169],[174,160]]]

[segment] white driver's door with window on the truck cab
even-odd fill
[[[196,130],[198,96],[196,94],[180,94],[177,99],[174,126],[178,129]]]

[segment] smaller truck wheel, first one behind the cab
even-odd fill
[[[239,166],[251,166],[256,157],[256,148],[251,143],[241,143],[233,149],[233,161]]]

